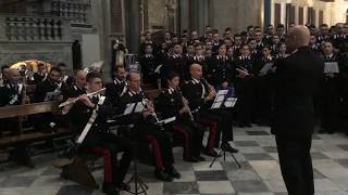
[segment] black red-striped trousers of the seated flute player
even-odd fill
[[[104,179],[114,184],[121,184],[128,171],[133,159],[133,144],[128,139],[116,136],[112,133],[102,133],[84,142],[84,150],[99,152],[96,148],[107,150],[109,154],[104,154]],[[117,153],[123,152],[122,158],[117,160]],[[105,156],[110,155],[110,159]],[[111,164],[109,166],[109,164]],[[111,170],[110,168],[111,167]]]

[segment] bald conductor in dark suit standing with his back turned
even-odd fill
[[[310,155],[314,128],[313,94],[324,63],[309,49],[310,31],[296,26],[288,32],[288,57],[275,64],[275,102],[272,131],[289,195],[313,195]]]

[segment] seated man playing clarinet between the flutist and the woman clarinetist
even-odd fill
[[[146,101],[146,96],[140,89],[140,75],[130,73],[126,76],[127,91],[121,96],[120,108],[126,108],[129,103],[138,103]],[[123,109],[123,110],[124,110]],[[163,181],[173,181],[174,178],[179,179],[181,174],[173,167],[174,156],[172,152],[172,141],[170,135],[163,131],[161,126],[156,125],[153,105],[147,104],[140,114],[130,114],[128,123],[134,125],[132,138],[138,141],[151,143],[156,159],[154,177]],[[137,117],[134,117],[137,116]]]

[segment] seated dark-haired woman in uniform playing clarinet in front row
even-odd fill
[[[167,77],[169,89],[163,90],[159,95],[157,107],[163,118],[176,117],[176,120],[171,122],[167,129],[184,136],[184,160],[203,161],[204,158],[200,156],[200,150],[204,129],[195,122],[188,102],[179,91],[178,84],[178,74],[171,73]]]

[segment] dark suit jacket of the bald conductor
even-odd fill
[[[299,48],[275,64],[275,101],[272,131],[307,136],[313,133],[313,96],[323,76],[323,61],[309,48]]]

